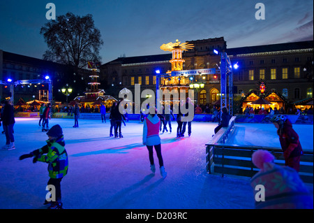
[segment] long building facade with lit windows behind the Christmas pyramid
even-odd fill
[[[223,37],[209,38],[193,43],[193,49],[183,54],[184,70],[219,69],[220,56],[214,50],[227,52],[232,64],[239,68],[233,70],[234,94],[245,96],[257,89],[264,80],[266,90],[280,92],[287,101],[299,101],[313,97],[313,41],[257,45],[244,48],[227,48]],[[141,57],[119,57],[100,67],[100,76],[107,82],[110,94],[118,97],[119,90],[126,87],[134,92],[134,85],[141,89],[156,89],[156,70],[166,73],[171,70],[172,54],[148,55]],[[160,78],[159,87],[178,85],[175,77]],[[212,105],[220,98],[220,75],[195,75],[193,80],[182,77],[180,85],[204,83],[195,89],[195,99],[202,105]]]

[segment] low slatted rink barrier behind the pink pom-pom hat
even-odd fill
[[[212,157],[207,163],[207,173],[211,173],[213,169],[214,173],[221,173],[222,177],[229,174],[252,178],[259,171],[252,161],[252,154],[257,150],[268,150],[276,157],[275,164],[285,165],[281,148],[215,143],[207,144],[207,152]],[[304,182],[313,184],[313,152],[304,151],[301,156],[299,176]]]

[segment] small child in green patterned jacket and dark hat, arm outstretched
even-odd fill
[[[55,196],[51,196],[51,201],[47,199],[44,204],[49,204],[48,209],[61,209],[61,180],[68,173],[68,153],[66,152],[65,141],[63,140],[63,131],[59,124],[54,125],[47,131],[47,145],[38,150],[33,150],[29,154],[20,156],[20,160],[33,157],[33,163],[41,161],[48,164],[48,173],[50,180],[47,185],[53,185]],[[55,200],[53,200],[55,198]]]

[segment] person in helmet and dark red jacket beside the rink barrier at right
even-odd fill
[[[283,157],[285,157],[285,166],[290,166],[299,172],[300,159],[303,155],[299,135],[292,129],[292,124],[285,115],[274,115],[271,117],[271,122],[277,129]]]

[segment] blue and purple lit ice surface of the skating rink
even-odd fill
[[[38,119],[15,120],[16,150],[0,151],[0,208],[46,208],[47,164],[18,157],[45,145],[47,135]],[[139,122],[126,122],[124,138],[109,137],[109,120],[79,120],[79,128],[73,128],[74,120],[50,120],[50,127],[54,124],[63,128],[69,156],[68,175],[61,182],[66,209],[254,208],[249,178],[206,173],[205,143],[217,123],[193,122],[190,137],[176,138],[177,122],[172,122],[172,134],[160,135],[164,180],[158,169],[151,174]],[[313,125],[296,124],[294,129],[302,146],[313,150]],[[280,146],[273,124],[239,124],[237,134],[234,143]],[[2,134],[0,145],[5,143]],[[156,154],[154,158],[158,166]]]

